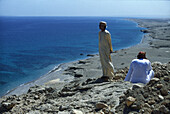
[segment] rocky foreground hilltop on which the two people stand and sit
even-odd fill
[[[27,94],[0,99],[0,113],[169,113],[170,63],[152,64],[155,71],[146,86],[124,82],[128,68],[115,72],[112,82],[89,78],[66,84],[61,90],[47,86],[31,87]],[[77,70],[77,68],[70,68]],[[117,107],[117,108],[116,108]],[[115,110],[116,109],[116,110]]]

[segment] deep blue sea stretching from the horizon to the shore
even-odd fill
[[[123,18],[0,17],[0,96],[57,64],[98,53],[101,20],[108,23],[114,50],[141,41],[142,28]]]

